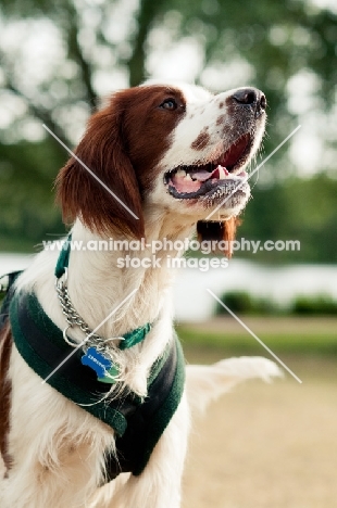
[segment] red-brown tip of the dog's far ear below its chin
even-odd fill
[[[230,257],[233,241],[235,240],[236,229],[239,224],[240,220],[237,217],[230,217],[228,220],[223,221],[198,220],[198,240],[200,242],[216,242],[216,244],[224,242],[225,249],[221,249],[221,252],[224,252],[227,257]],[[219,251],[219,249],[215,249],[215,251]]]

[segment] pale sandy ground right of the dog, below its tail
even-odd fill
[[[195,422],[184,508],[337,507],[336,364],[287,361],[302,384],[248,382]]]

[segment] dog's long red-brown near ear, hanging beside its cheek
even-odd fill
[[[63,219],[74,221],[79,217],[89,229],[107,236],[121,232],[143,237],[141,196],[123,145],[118,96],[91,116],[75,154],[77,158],[71,157],[57,178]]]

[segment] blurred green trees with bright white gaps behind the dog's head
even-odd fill
[[[74,147],[100,97],[172,76],[263,89],[264,154],[303,124],[261,169],[240,234],[301,241],[274,262],[335,262],[336,42],[336,13],[305,0],[2,0],[1,250],[64,230],[52,182],[67,154],[41,124]]]

